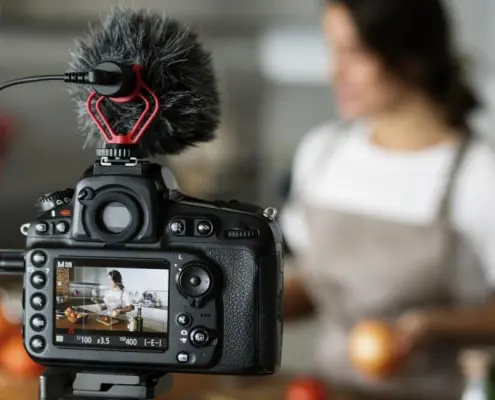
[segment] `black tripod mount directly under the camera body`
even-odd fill
[[[170,374],[48,368],[40,376],[38,400],[153,400],[171,388]]]

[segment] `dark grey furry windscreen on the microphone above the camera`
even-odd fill
[[[145,154],[178,154],[215,138],[217,82],[211,57],[191,29],[153,11],[115,8],[76,42],[69,72],[90,71],[105,61],[141,65],[145,83],[159,99],[159,115],[141,138]],[[69,90],[86,145],[101,145],[102,135],[86,110],[92,89],[71,85]],[[144,110],[140,100],[103,104],[102,112],[117,133],[128,133]]]

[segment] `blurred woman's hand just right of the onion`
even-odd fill
[[[408,311],[396,323],[399,354],[407,357],[426,345],[433,336],[433,316],[428,311]]]

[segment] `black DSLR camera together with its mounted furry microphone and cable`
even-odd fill
[[[179,31],[170,19],[157,25],[156,18],[117,11],[103,30],[93,31],[96,50],[80,46],[86,52],[80,64],[93,65],[95,57],[118,51],[109,43],[127,44],[128,32],[148,32],[157,36],[148,50],[158,52],[144,58],[148,69],[104,61],[89,73],[60,79],[91,88],[79,94],[87,94],[84,112],[105,145],[75,188],[41,197],[36,218],[21,228],[24,344],[35,361],[55,368],[271,374],[282,346],[283,246],[276,210],[188,197],[147,160],[151,142],[175,143],[178,150],[206,141],[216,118],[215,93],[207,84],[213,78],[203,68],[208,58],[189,31]],[[141,48],[139,42],[129,52]],[[196,71],[205,77],[201,82]],[[17,80],[0,90],[43,79]],[[176,104],[185,108],[174,109]],[[113,130],[125,130],[129,121],[129,132]],[[202,124],[205,130],[192,137],[191,127]],[[182,132],[184,140],[173,142]]]

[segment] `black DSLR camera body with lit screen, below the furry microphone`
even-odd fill
[[[259,375],[282,346],[273,209],[206,202],[148,162],[95,162],[26,224],[23,336],[46,366]]]

